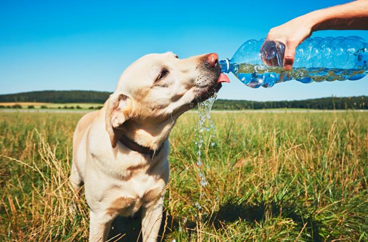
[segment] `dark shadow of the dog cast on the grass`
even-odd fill
[[[308,222],[304,228],[304,232],[308,231],[311,236],[305,237],[306,241],[321,241],[322,238],[319,235],[321,227],[320,222],[314,219],[312,213],[305,212],[303,214],[304,216],[302,216],[301,211],[303,211],[303,209],[296,207],[289,201],[268,203],[264,201],[256,201],[249,204],[247,202],[239,202],[237,198],[231,198],[221,205],[210,218],[204,218],[204,222],[213,224],[216,229],[222,228],[228,223],[236,222],[239,219],[249,223],[251,226],[258,226],[256,225],[256,222],[262,223],[266,218],[266,214],[268,214],[269,217],[292,219],[297,223],[299,231],[302,229],[304,224]],[[139,210],[133,217],[117,217],[112,222],[111,226],[113,229],[111,228],[108,238],[110,239],[118,234],[120,234],[120,236],[125,234],[125,236],[121,237],[117,241],[142,242],[141,214],[141,210]],[[187,231],[192,233],[195,230],[196,223],[195,221],[188,220],[184,226],[186,228],[191,228]],[[165,241],[165,238],[161,240],[162,236],[165,237],[165,235],[170,234],[178,228],[179,222],[170,214],[164,212],[157,241]],[[115,241],[120,236],[116,236],[109,241]]]

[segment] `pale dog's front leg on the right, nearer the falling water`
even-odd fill
[[[156,242],[162,219],[163,196],[142,206],[143,242]]]

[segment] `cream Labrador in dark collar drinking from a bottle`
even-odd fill
[[[70,183],[84,185],[89,241],[105,241],[117,215],[142,207],[144,242],[157,241],[169,178],[168,136],[176,119],[228,82],[215,53],[139,58],[121,74],[101,110],[85,114],[73,136]]]

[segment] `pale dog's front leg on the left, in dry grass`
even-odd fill
[[[89,242],[106,241],[113,217],[107,216],[106,213],[92,211],[89,214]]]

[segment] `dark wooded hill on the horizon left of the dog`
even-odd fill
[[[0,95],[0,102],[104,103],[111,92],[35,91]]]

